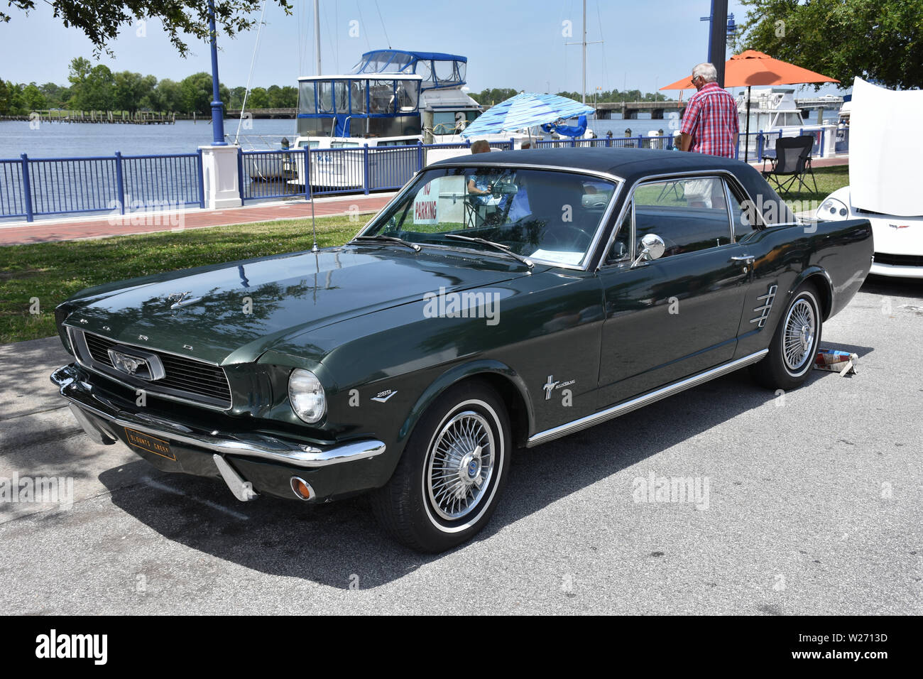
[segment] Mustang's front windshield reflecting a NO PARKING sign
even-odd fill
[[[430,170],[363,233],[502,257],[483,243],[447,236],[484,238],[533,260],[580,266],[615,188],[605,179],[552,170]]]

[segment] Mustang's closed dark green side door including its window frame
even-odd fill
[[[727,199],[720,175],[650,178],[633,188],[599,273],[599,406],[733,358],[749,264]],[[639,261],[646,234],[663,238],[660,259]]]

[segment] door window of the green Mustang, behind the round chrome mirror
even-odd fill
[[[664,240],[664,257],[731,242],[725,184],[717,177],[693,177],[648,182],[634,192],[635,248],[641,237]]]

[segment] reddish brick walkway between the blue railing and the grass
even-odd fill
[[[392,193],[376,195],[346,196],[337,199],[318,199],[314,204],[316,216],[349,214],[358,206],[359,212],[378,212],[383,208]],[[184,229],[200,229],[209,226],[227,226],[230,224],[254,224],[271,222],[278,219],[310,219],[311,203],[306,200],[252,207],[226,208],[224,210],[199,210],[185,212]],[[102,238],[105,236],[128,236],[130,234],[147,234],[155,231],[168,231],[175,228],[169,216],[161,219],[149,218],[151,224],[132,224],[132,216],[125,215],[124,224],[114,217],[105,216],[96,219],[87,217],[73,220],[54,220],[54,222],[32,222],[31,224],[0,224],[0,246],[27,243],[46,243],[54,240],[76,240],[78,238]],[[135,220],[144,219],[135,215]],[[174,217],[175,219],[175,217]]]

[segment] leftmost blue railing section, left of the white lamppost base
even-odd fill
[[[205,207],[202,155],[0,159],[0,217]]]

